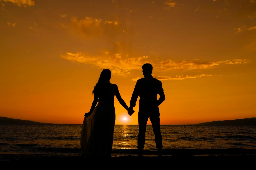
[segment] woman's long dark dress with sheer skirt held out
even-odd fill
[[[93,113],[84,118],[81,132],[82,156],[110,156],[115,126],[114,97],[117,85],[109,83],[99,94]]]

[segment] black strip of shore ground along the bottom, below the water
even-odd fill
[[[84,158],[80,156],[0,154],[1,169],[254,169],[255,163],[256,155]]]

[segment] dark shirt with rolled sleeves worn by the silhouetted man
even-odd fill
[[[157,94],[160,98],[157,100]],[[151,103],[160,105],[165,100],[162,83],[152,75],[137,80],[131,96],[130,106],[135,107],[136,101],[140,96],[139,104]]]

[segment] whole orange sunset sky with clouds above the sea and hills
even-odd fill
[[[166,96],[160,124],[256,117],[254,0],[0,0],[0,8],[0,116],[82,124],[103,68],[129,106],[151,63]],[[138,124],[138,106],[129,117],[115,98],[116,124]]]

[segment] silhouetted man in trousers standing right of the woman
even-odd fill
[[[156,147],[158,156],[162,156],[162,135],[160,131],[160,113],[158,106],[165,100],[165,95],[161,81],[153,78],[153,66],[150,63],[144,64],[142,67],[144,78],[137,80],[132,97],[130,100],[130,110],[135,107],[138,96],[139,100],[139,135],[138,135],[138,156],[142,156],[142,150],[145,144],[145,133],[148,118],[150,119],[155,134]],[[157,94],[160,98],[157,100]],[[131,116],[132,112],[128,112]]]

